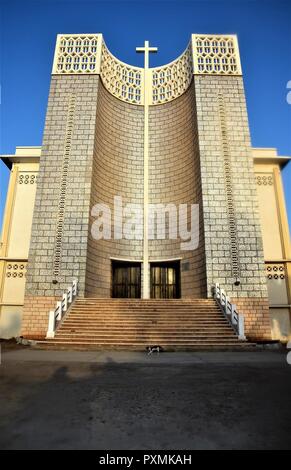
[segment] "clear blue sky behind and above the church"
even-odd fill
[[[152,66],[175,59],[191,33],[238,34],[252,144],[291,155],[290,0],[0,0],[0,8],[1,154],[41,145],[56,35],[96,32],[135,65],[143,60],[135,47],[149,39],[159,47]],[[0,222],[8,176],[1,163]],[[283,180],[291,221],[291,164]]]

